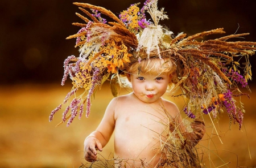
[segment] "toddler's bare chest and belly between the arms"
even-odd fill
[[[167,134],[168,119],[162,111],[130,108],[115,120],[115,153],[119,157],[154,157]]]

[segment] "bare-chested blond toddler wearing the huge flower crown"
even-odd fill
[[[196,119],[191,123],[193,132],[185,131],[177,106],[162,98],[175,67],[170,58],[150,58],[135,62],[127,69],[133,92],[115,97],[109,103],[100,125],[84,141],[86,161],[97,160],[97,150],[102,151],[115,131],[115,157],[128,159],[130,167],[139,167],[141,160],[148,167],[159,165],[160,143],[168,137],[170,116],[187,141],[195,145],[202,139],[204,122]]]

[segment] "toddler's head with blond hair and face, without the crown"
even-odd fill
[[[170,58],[149,58],[133,63],[127,70],[126,77],[133,92],[143,102],[158,101],[168,86],[176,66]]]

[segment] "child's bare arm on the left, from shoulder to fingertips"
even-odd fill
[[[97,160],[97,150],[102,151],[102,147],[108,143],[115,127],[114,106],[115,98],[106,108],[104,117],[97,127],[96,131],[90,133],[84,141],[84,158],[88,162]]]

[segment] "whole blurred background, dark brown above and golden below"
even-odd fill
[[[48,122],[51,111],[71,89],[71,80],[64,87],[60,85],[64,59],[79,55],[73,47],[75,40],[65,40],[79,30],[71,23],[82,22],[75,15],[81,12],[73,2],[77,1],[0,1],[0,167],[79,167],[85,163],[83,142],[97,127],[113,98],[109,84],[97,92],[89,118],[75,119],[69,127],[65,124],[55,127],[61,120],[62,111],[59,111],[53,122]],[[139,1],[78,2],[102,6],[118,15]],[[255,6],[254,0],[159,0],[159,7],[165,7],[170,18],[160,24],[165,24],[175,35],[180,32],[193,35],[223,27],[226,35],[248,32],[250,35],[245,40],[256,41]],[[253,74],[256,74],[255,57],[250,59]],[[242,100],[246,110],[242,131],[236,126],[229,130],[224,115],[218,129],[223,144],[216,136],[212,141],[205,136],[201,142],[202,147],[210,144],[212,167],[223,162],[231,163],[221,167],[256,167],[255,84],[255,80],[249,82],[250,100],[246,97]],[[166,98],[176,102],[180,109],[183,107],[178,98]],[[209,127],[209,135],[211,131]],[[113,152],[113,139],[101,152],[102,157],[108,158],[110,152]],[[215,152],[220,158],[214,156]]]

